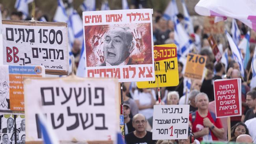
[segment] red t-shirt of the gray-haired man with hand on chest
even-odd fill
[[[216,118],[216,121],[214,122],[213,118],[211,117],[210,111],[208,111],[208,114],[206,117],[209,118],[209,120],[214,124],[215,127],[223,128],[221,124],[221,120],[219,118]],[[198,114],[198,111],[196,111],[196,118],[195,118],[195,121],[192,123],[192,114],[189,114],[189,121],[192,123],[193,133],[198,132],[204,128],[203,120],[204,118]],[[212,140],[219,140],[211,130],[209,135],[211,135]],[[197,140],[202,141],[203,137],[198,137]]]

